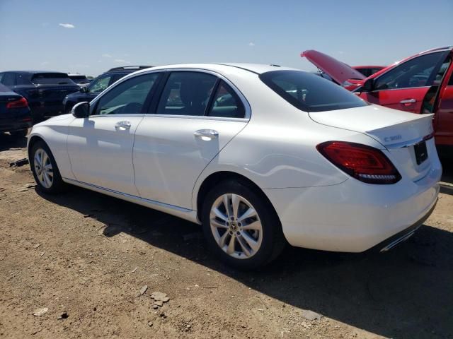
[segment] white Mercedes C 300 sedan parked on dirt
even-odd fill
[[[256,268],[285,244],[386,251],[434,209],[432,115],[369,105],[280,66],[137,71],[35,125],[41,191],[66,184],[202,224],[223,261]]]

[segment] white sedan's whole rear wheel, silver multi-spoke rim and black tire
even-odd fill
[[[210,249],[236,268],[264,266],[286,244],[273,207],[260,192],[240,182],[221,183],[207,194],[202,224]]]

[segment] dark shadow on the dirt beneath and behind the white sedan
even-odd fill
[[[106,226],[228,275],[269,297],[390,338],[453,333],[453,234],[423,226],[386,254],[336,254],[288,247],[270,266],[241,272],[207,251],[198,225],[85,189],[44,196]]]

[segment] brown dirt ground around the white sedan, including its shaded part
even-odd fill
[[[244,273],[190,222],[38,193],[28,165],[8,166],[24,146],[0,135],[0,338],[453,338],[451,159],[435,212],[389,253],[288,248]],[[152,292],[170,300],[154,309]]]

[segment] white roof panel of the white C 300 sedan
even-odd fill
[[[300,71],[299,69],[292,69],[289,67],[282,67],[278,65],[267,65],[267,64],[239,64],[239,63],[212,63],[212,64],[173,64],[153,67],[153,71],[165,70],[165,69],[205,69],[207,71],[214,71],[219,73],[231,73],[232,71],[237,72],[251,72],[256,74],[262,74],[269,71]],[[142,70],[137,73],[142,73],[147,70]]]

